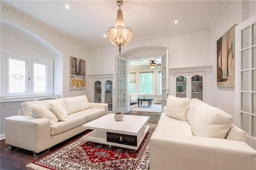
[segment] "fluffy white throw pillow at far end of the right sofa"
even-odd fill
[[[175,98],[174,96],[169,95],[166,106],[167,116],[186,121],[186,112],[189,107],[188,98]]]

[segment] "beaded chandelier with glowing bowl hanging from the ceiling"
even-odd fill
[[[110,27],[106,32],[108,40],[115,46],[119,46],[119,53],[121,53],[121,46],[129,44],[133,39],[133,32],[130,28],[125,27],[123,22],[123,14],[121,6],[123,0],[117,0],[116,4],[119,6],[116,16],[115,27]]]

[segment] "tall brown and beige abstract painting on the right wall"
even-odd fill
[[[234,28],[217,41],[217,86],[234,87]]]

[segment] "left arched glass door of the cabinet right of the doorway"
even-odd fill
[[[176,78],[176,97],[186,98],[187,97],[187,78],[179,76]]]

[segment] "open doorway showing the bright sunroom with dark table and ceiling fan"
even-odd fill
[[[131,111],[162,111],[161,58],[157,56],[127,60]]]

